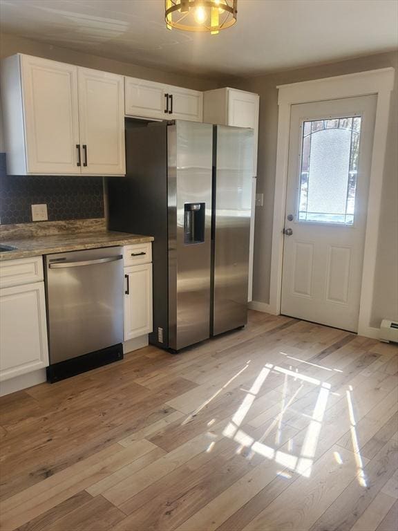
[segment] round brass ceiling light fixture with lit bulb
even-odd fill
[[[210,32],[236,23],[238,0],[165,0],[166,25],[169,30]]]

